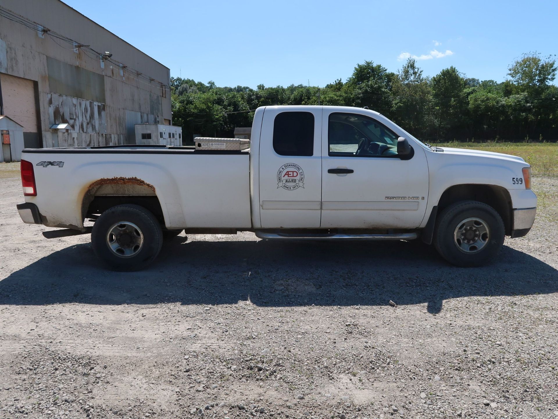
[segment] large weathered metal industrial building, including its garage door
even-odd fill
[[[169,85],[169,68],[60,0],[0,2],[0,115],[26,147],[134,144],[134,125],[171,125]]]

